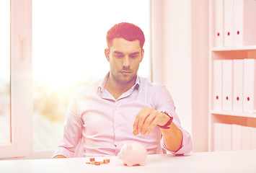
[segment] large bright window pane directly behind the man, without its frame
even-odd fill
[[[32,3],[32,78],[35,151],[53,150],[63,136],[71,94],[104,77],[107,30],[132,22],[146,36],[138,74],[150,78],[149,0],[45,0]]]

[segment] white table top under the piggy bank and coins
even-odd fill
[[[116,156],[96,157],[96,161],[110,159],[109,164],[85,164],[89,158],[1,160],[0,172],[24,173],[78,173],[78,172],[256,172],[256,150],[191,153],[185,156],[172,154],[149,155],[145,166],[126,167]]]

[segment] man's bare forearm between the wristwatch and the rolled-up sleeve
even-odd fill
[[[182,131],[175,123],[171,123],[169,127],[169,129],[161,129],[164,144],[170,151],[178,151],[182,146]]]

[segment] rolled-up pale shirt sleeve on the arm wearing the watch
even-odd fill
[[[177,116],[177,113],[175,112],[175,104],[173,102],[171,94],[169,94],[169,91],[165,86],[162,86],[162,88],[159,90],[159,97],[158,97],[158,104],[156,107],[156,110],[159,110],[160,112],[169,112],[173,116],[172,123],[175,123],[178,128],[182,131],[182,146],[178,151],[170,151],[167,146],[164,144],[163,138],[161,139],[161,146],[166,151],[169,151],[172,154],[188,154],[192,151],[192,139],[190,136],[190,133],[187,132],[187,130],[183,129],[180,125],[180,119]]]

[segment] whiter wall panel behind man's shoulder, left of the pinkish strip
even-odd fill
[[[172,94],[182,125],[191,133],[190,0],[165,1],[164,82]]]

